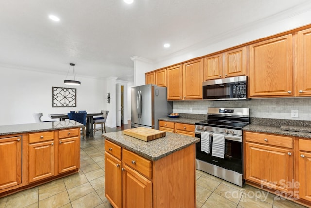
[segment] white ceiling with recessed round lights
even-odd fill
[[[159,62],[215,37],[227,38],[310,0],[0,0],[0,64],[133,82],[138,56]],[[48,18],[57,15],[59,22]],[[169,49],[163,44],[169,42]]]

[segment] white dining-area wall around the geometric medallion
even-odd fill
[[[65,76],[0,66],[0,125],[34,123],[32,113],[100,112],[106,109],[106,82],[77,76],[80,86],[64,85]],[[52,107],[52,87],[77,89],[77,107]],[[114,116],[107,119],[107,123]],[[110,123],[110,122],[109,122]],[[108,125],[107,125],[108,126]]]

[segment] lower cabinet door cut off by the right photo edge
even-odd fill
[[[311,152],[299,152],[299,196],[311,201]]]

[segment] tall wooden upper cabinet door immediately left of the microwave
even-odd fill
[[[203,59],[183,64],[183,99],[202,99]]]

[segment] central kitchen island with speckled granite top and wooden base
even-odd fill
[[[105,195],[114,208],[196,207],[198,138],[166,132],[145,142],[122,131],[103,137]]]

